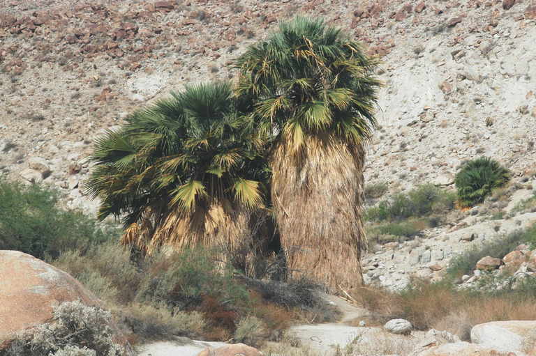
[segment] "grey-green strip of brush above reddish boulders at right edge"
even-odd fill
[[[452,258],[447,268],[447,276],[456,279],[463,274],[470,274],[472,270],[475,270],[475,265],[480,258],[485,256],[502,258],[522,243],[536,246],[536,226],[524,231],[514,231],[502,238],[486,242],[484,245],[466,249],[459,256]]]

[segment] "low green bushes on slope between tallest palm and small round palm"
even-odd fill
[[[366,210],[365,217],[371,221],[384,221],[444,213],[454,208],[455,200],[453,192],[426,184],[380,201],[377,206]]]

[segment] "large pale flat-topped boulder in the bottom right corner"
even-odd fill
[[[493,321],[475,325],[471,342],[507,351],[522,351],[526,337],[536,329],[536,320]]]

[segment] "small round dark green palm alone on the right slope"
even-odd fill
[[[509,171],[496,160],[480,157],[463,164],[454,183],[462,206],[482,203],[494,188],[502,187],[509,180]]]

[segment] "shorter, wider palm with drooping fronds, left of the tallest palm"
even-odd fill
[[[128,116],[96,140],[87,185],[98,217],[121,217],[121,242],[151,253],[162,245],[238,245],[249,216],[265,207],[269,180],[261,141],[244,126],[248,103],[228,83],[188,86]]]

